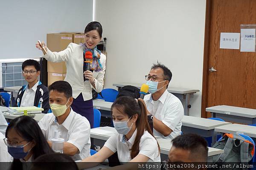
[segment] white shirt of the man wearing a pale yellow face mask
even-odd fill
[[[54,131],[58,130],[60,138],[75,145],[79,151],[72,156],[74,161],[90,156],[90,123],[84,116],[71,109],[65,121],[58,124],[57,118],[52,113],[47,113],[38,125],[47,140],[51,141],[54,138]]]

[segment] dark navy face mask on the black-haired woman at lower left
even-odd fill
[[[30,142],[29,142],[30,143]],[[27,143],[27,144],[29,144]],[[21,159],[21,158],[25,158],[27,156],[27,154],[29,153],[29,151],[32,149],[30,149],[28,152],[24,152],[23,148],[27,145],[17,145],[17,146],[7,146],[8,147],[8,153],[15,159]]]

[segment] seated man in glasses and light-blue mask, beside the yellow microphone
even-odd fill
[[[154,136],[172,140],[181,133],[184,115],[180,99],[167,91],[172,72],[163,64],[157,63],[145,78],[151,94],[145,95],[144,101],[148,112],[153,115]]]

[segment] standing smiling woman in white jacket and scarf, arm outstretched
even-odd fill
[[[84,30],[84,44],[70,43],[67,49],[61,52],[51,52],[42,42],[42,46],[47,51],[45,53],[39,43],[36,43],[36,48],[44,53],[43,58],[51,62],[66,62],[67,75],[64,81],[72,86],[74,100],[71,107],[88,119],[91,128],[93,128],[92,88],[96,92],[101,92],[104,83],[106,56],[96,47],[101,38],[102,26],[94,21],[90,22]],[[93,54],[93,63],[90,64],[90,71],[84,71],[84,55],[88,51]]]

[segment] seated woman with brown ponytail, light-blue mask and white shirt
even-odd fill
[[[79,169],[96,166],[116,151],[121,164],[122,162],[160,162],[160,148],[148,125],[143,99],[122,96],[113,103],[111,111],[113,124],[118,133],[111,136],[99,152],[83,160],[90,164],[79,163]],[[134,169],[135,165],[128,163],[122,168]]]

